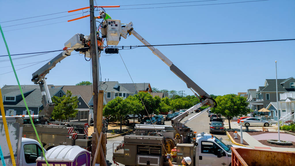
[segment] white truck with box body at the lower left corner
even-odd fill
[[[35,166],[36,159],[42,155],[41,145],[34,139],[22,138],[23,119],[16,116],[6,116],[9,137],[17,166]],[[7,145],[4,124],[0,116],[0,146],[6,165],[12,165],[9,148]],[[45,151],[45,149],[44,149]],[[46,152],[46,151],[45,151]],[[0,166],[2,166],[2,161]]]

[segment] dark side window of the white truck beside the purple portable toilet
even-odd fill
[[[24,145],[24,158],[27,163],[34,163],[41,156],[42,149],[37,144]]]

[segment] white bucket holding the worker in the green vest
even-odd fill
[[[106,44],[107,45],[118,45],[121,35],[121,21],[117,19],[107,19],[106,29]]]

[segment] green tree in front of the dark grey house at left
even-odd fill
[[[55,104],[52,118],[58,121],[67,120],[69,117],[76,117],[78,113],[78,97],[72,97],[71,91],[67,90],[67,94],[62,97],[53,96],[52,102]]]

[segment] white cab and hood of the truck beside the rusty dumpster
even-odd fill
[[[230,147],[248,148],[224,144],[212,134],[198,134],[196,137],[195,166],[230,165],[232,159]]]

